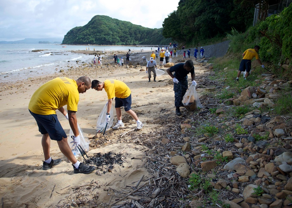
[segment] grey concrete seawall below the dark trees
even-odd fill
[[[221,43],[217,43],[217,44],[214,44],[214,45],[206,45],[206,46],[203,46],[204,48],[204,57],[206,58],[210,58],[210,57],[223,57],[227,50],[228,50],[228,47],[229,47],[229,43],[230,43],[231,40],[226,40],[224,42],[221,42]],[[200,55],[200,49],[201,49],[201,46],[198,46],[198,54],[197,54],[197,57],[199,57]],[[173,51],[173,48],[170,48],[169,51],[172,50]],[[178,55],[183,55],[183,52],[186,51],[187,52],[188,48],[184,49],[184,50],[176,50],[176,53]],[[191,48],[191,54],[190,54],[190,57],[194,57],[194,50],[195,48]]]

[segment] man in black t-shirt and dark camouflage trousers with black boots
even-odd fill
[[[174,91],[174,105],[175,105],[175,114],[181,116],[180,106],[183,106],[183,96],[187,91],[187,75],[191,73],[192,82],[195,81],[195,71],[194,64],[192,60],[187,60],[185,63],[176,64],[171,68],[168,68],[167,73],[171,76],[173,80],[173,91]],[[175,72],[174,74],[172,74]]]

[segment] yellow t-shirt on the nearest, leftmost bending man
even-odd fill
[[[56,110],[67,105],[67,110],[77,111],[78,86],[75,80],[57,77],[37,89],[29,101],[28,109],[36,114],[56,114]]]

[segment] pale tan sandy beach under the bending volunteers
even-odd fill
[[[85,186],[88,187],[91,197],[95,195],[98,202],[96,207],[106,207],[133,191],[131,186],[135,187],[140,179],[140,185],[143,185],[155,177],[149,174],[144,165],[148,160],[145,152],[152,147],[143,145],[145,140],[139,141],[139,139],[147,138],[157,128],[163,128],[164,124],[168,124],[170,118],[176,118],[173,81],[165,72],[164,75],[156,78],[157,82],[153,82],[152,74],[151,82],[148,82],[145,73],[146,64],[142,64],[141,58],[146,55],[149,60],[150,51],[131,55],[133,66],[137,66],[138,62],[141,64],[136,68],[114,66],[112,61],[114,53],[117,53],[119,57],[125,54],[125,52],[115,51],[112,54],[106,54],[107,57],[102,59],[102,66],[77,63],[77,67],[62,73],[3,83],[0,91],[2,106],[0,198],[3,200],[3,207],[65,207],[66,204],[70,207],[74,203],[78,207],[80,201],[86,201],[85,192],[78,192],[80,187]],[[182,57],[173,58],[172,62],[178,59],[182,59]],[[126,58],[124,58],[125,62]],[[206,63],[194,61],[194,64],[196,77],[199,80],[200,76],[208,73],[209,70],[205,66]],[[159,68],[166,71],[166,68]],[[71,163],[60,152],[57,142],[53,141],[51,142],[51,156],[53,159],[61,158],[63,162],[44,171],[41,169],[42,160],[44,160],[41,134],[36,121],[28,111],[30,98],[34,91],[48,80],[55,77],[77,79],[83,75],[90,77],[91,80],[117,79],[125,82],[131,89],[132,110],[136,112],[144,127],[141,131],[136,131],[135,121],[122,110],[125,127],[115,131],[111,128],[104,136],[102,134],[95,136],[96,122],[107,101],[107,95],[104,90],[97,92],[89,89],[85,94],[80,94],[77,112],[78,124],[91,141],[88,156],[111,151],[114,154],[121,154],[123,163],[114,164],[110,172],[104,165],[88,175],[74,174]],[[188,80],[191,83],[190,76]],[[200,92],[200,89],[198,91]],[[64,108],[66,109],[66,106]],[[189,113],[183,108],[181,110],[184,114]],[[65,132],[69,135],[69,122],[58,111],[57,115]],[[184,121],[184,118],[178,119],[181,122]],[[154,122],[157,120],[164,124]],[[114,123],[116,122],[114,111]],[[158,135],[154,135],[152,138],[156,136],[161,138]],[[79,158],[79,160],[82,161],[83,158]],[[77,198],[79,198],[79,204]],[[123,204],[127,200],[131,201],[131,199],[125,198],[117,204]]]

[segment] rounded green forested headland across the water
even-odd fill
[[[65,35],[62,44],[169,44],[171,39],[164,38],[162,30],[163,28],[150,29],[108,16],[96,15],[83,27],[71,29]]]

